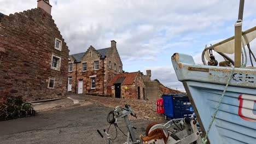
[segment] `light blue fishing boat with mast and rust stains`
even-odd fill
[[[256,67],[252,62],[256,59],[249,45],[256,37],[256,27],[242,32],[243,5],[240,0],[235,36],[206,46],[203,65],[195,64],[189,55],[172,56],[177,78],[183,83],[203,136],[210,143],[256,143]],[[220,66],[212,51],[224,57]],[[232,53],[234,60],[227,55]],[[250,67],[246,65],[247,55]]]

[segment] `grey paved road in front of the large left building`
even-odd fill
[[[107,129],[106,117],[112,108],[100,105],[77,106],[72,109],[39,112],[35,117],[0,122],[0,143],[105,143],[97,129]],[[150,121],[134,120],[137,136],[144,134]],[[119,124],[125,131],[125,125]],[[115,135],[112,128],[110,134]],[[126,137],[118,131],[113,143],[122,143]]]

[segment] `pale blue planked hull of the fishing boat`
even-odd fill
[[[205,132],[224,91],[231,68],[195,65],[193,57],[177,53],[172,57],[172,63]],[[256,70],[234,70],[230,86],[208,135],[211,143],[255,143],[255,84]]]

